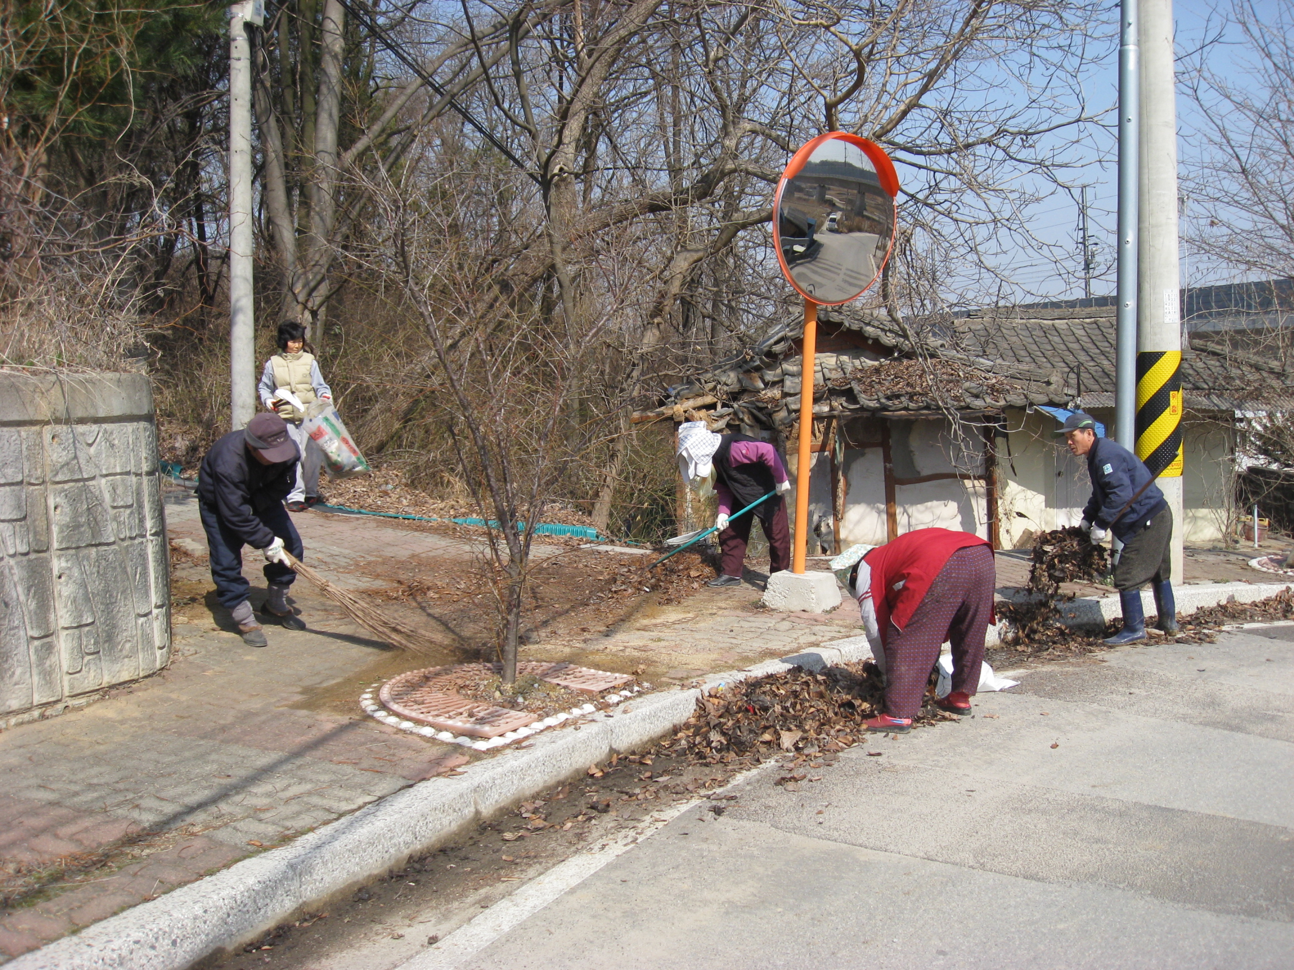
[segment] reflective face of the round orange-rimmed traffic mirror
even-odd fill
[[[875,282],[894,235],[894,199],[863,150],[841,138],[817,149],[778,198],[787,273],[817,303],[845,303]]]

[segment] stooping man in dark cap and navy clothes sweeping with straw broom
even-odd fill
[[[247,601],[251,585],[242,574],[243,546],[265,555],[265,610],[289,630],[305,629],[287,605],[296,573],[283,555],[285,550],[296,559],[303,555],[302,537],[283,508],[299,460],[296,442],[277,414],[258,414],[242,431],[220,438],[202,459],[198,512],[207,533],[211,578],[220,605],[233,614],[248,647],[264,647],[268,640]]]

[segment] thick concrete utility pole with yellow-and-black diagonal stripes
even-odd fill
[[[1141,41],[1141,206],[1137,265],[1136,453],[1172,510],[1181,582],[1181,291],[1172,0],[1137,0]]]

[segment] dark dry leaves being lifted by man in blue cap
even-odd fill
[[[1020,649],[1056,647],[1090,638],[1075,634],[1060,620],[1058,603],[1073,596],[1061,595],[1066,582],[1095,582],[1109,572],[1104,546],[1092,543],[1082,529],[1053,529],[1034,539],[1033,565],[1029,569],[1027,599],[998,605],[998,614],[1011,622],[1005,638]]]

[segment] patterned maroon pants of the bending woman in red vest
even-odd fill
[[[925,684],[945,640],[952,644],[952,689],[976,692],[996,576],[987,546],[959,548],[902,632],[890,623],[885,647],[886,714],[914,718],[921,710]]]

